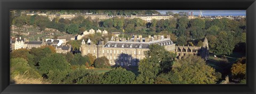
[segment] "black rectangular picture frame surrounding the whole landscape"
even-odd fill
[[[247,84],[10,84],[10,10],[246,10]],[[1,93],[255,93],[255,0],[1,0]]]

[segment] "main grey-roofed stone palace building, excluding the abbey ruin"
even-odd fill
[[[175,44],[169,38],[160,36],[159,40],[145,42],[145,38],[134,36],[128,41],[108,41],[105,45],[101,40],[97,44],[83,40],[81,45],[81,54],[92,54],[94,56],[106,56],[110,65],[138,65],[140,59],[145,57],[145,51],[149,50],[149,45],[158,44],[164,46],[166,50],[174,52]]]

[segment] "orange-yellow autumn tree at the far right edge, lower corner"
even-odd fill
[[[246,57],[238,58],[231,67],[231,74],[234,79],[239,81],[246,79]]]

